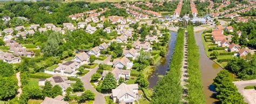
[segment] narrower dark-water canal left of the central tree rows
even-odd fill
[[[165,57],[162,57],[155,67],[155,71],[148,78],[149,80],[149,88],[152,88],[157,85],[157,81],[160,76],[166,75],[166,71],[169,70],[169,64],[172,59],[173,49],[175,47],[175,42],[177,38],[177,32],[170,32],[170,40],[167,47],[167,53]]]

